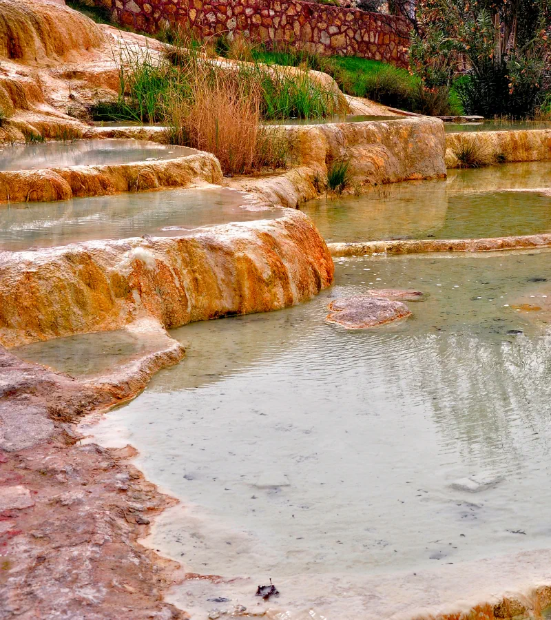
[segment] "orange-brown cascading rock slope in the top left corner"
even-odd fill
[[[147,45],[153,56],[162,50],[154,39],[98,25],[61,3],[0,0],[0,107],[10,121],[0,127],[0,141],[85,132],[69,112],[78,116],[118,92],[121,45]]]

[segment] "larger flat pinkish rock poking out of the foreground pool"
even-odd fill
[[[326,320],[348,329],[377,327],[411,315],[406,304],[369,294],[335,299],[329,304],[329,309],[331,312]]]

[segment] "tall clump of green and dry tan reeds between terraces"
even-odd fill
[[[98,102],[92,116],[165,123],[169,142],[214,153],[225,173],[241,174],[289,161],[286,132],[262,121],[342,111],[338,93],[308,70],[211,59],[197,41],[174,40],[165,54],[121,48],[118,98]],[[246,42],[230,52],[247,56]]]

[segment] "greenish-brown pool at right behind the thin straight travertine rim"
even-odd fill
[[[300,208],[331,242],[551,232],[551,161],[448,170],[447,179],[323,197]]]

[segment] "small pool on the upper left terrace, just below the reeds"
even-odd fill
[[[0,172],[166,160],[196,152],[187,147],[118,138],[16,144],[0,146]]]

